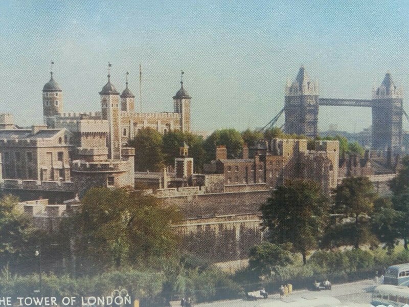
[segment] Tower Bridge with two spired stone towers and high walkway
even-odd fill
[[[319,106],[359,106],[372,108],[372,148],[394,151],[402,149],[403,92],[387,72],[379,87],[372,89],[372,99],[320,98],[316,82],[308,77],[302,66],[296,79],[285,86],[284,108],[266,126],[272,127],[284,113],[284,132],[318,135]],[[409,118],[408,118],[409,120]]]

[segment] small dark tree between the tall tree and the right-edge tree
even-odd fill
[[[399,211],[392,207],[389,198],[378,198],[374,202],[374,213],[371,218],[372,231],[384,248],[388,249],[388,254],[392,254],[399,238]]]

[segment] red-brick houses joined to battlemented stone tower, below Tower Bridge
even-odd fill
[[[273,139],[244,147],[242,159],[227,159],[225,146],[217,146],[216,160],[204,169],[224,174],[230,188],[264,184],[274,189],[285,179],[305,178],[320,182],[329,193],[337,184],[338,157],[338,141],[316,141],[315,150],[307,150],[307,140]]]

